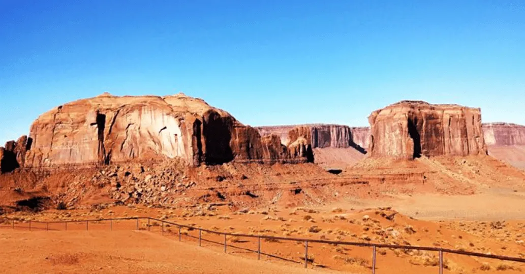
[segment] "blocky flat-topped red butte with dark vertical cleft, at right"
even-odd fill
[[[369,122],[372,157],[487,154],[479,108],[401,101],[372,112]]]

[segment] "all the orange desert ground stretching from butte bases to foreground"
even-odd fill
[[[95,175],[65,173],[63,180],[59,180],[62,174],[52,174],[40,185],[36,177],[34,184],[30,184],[22,174],[4,176],[2,189],[6,199],[21,199],[18,196],[33,193],[26,189],[46,192],[46,188],[38,186],[47,186],[66,193],[65,197],[72,199],[69,204],[78,197],[83,200],[79,204],[87,205],[76,208],[68,205],[68,210],[48,209],[38,213],[11,210],[4,216],[25,221],[151,216],[217,232],[434,246],[525,258],[525,173],[492,157],[423,157],[409,162],[364,159],[340,175],[329,174],[316,165],[232,164],[199,167],[184,175],[167,167],[144,171],[142,168],[134,171],[131,167],[119,169],[121,173],[131,170],[137,176],[130,179],[125,174],[113,176],[112,168],[116,167],[100,172],[91,170]],[[102,189],[109,191],[108,187],[117,181],[122,182],[125,191],[145,193],[135,188],[144,186],[147,191],[150,187],[159,188],[159,184],[142,183],[148,181],[149,174],[158,176],[155,178],[160,182],[171,181],[177,174],[175,177],[182,182],[191,178],[197,184],[170,186],[171,194],[148,192],[152,197],[167,199],[160,204],[148,200],[150,198],[145,199],[152,202],[149,205],[107,204],[91,195]],[[88,182],[77,184],[80,179]],[[76,182],[68,185],[69,180]],[[51,184],[57,181],[63,186]],[[104,184],[99,184],[100,181]],[[117,194],[119,191],[124,190],[118,190]],[[2,197],[0,191],[0,200]],[[174,199],[173,204],[170,197]],[[10,223],[0,222],[0,232],[4,233],[0,236],[0,265],[9,266],[8,273],[303,271],[302,241],[264,241],[264,261],[260,262],[256,254],[247,250],[257,249],[254,238],[228,236],[225,256],[223,235],[204,233],[205,239],[217,243],[205,242],[205,248],[198,248],[196,230],[183,229],[182,239],[186,245],[181,245],[177,241],[176,226],[166,225],[162,237],[159,222],[152,222],[151,226],[144,221],[138,226],[135,221],[110,225],[109,222],[90,223],[86,232],[85,223],[70,223],[66,232],[64,223],[59,223],[51,225],[51,232],[46,233],[41,231],[45,227],[33,223],[35,232],[29,233],[27,227],[13,231],[8,230]],[[113,232],[108,231],[110,227]],[[142,231],[135,231],[137,229]],[[151,230],[151,234],[145,230]],[[378,274],[437,273],[435,252],[379,249]],[[309,267],[316,272],[331,269],[370,273],[372,250],[312,244],[308,259]],[[250,264],[268,267],[254,268]],[[445,264],[447,274],[522,273],[525,269],[523,264],[450,254],[445,256]]]

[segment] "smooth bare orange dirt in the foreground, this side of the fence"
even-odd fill
[[[0,230],[2,273],[334,273],[225,255],[158,234]]]

